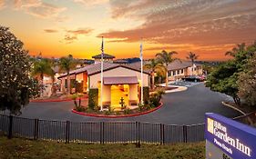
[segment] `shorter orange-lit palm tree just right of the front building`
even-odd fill
[[[152,77],[152,85],[151,89],[154,89],[155,86],[155,74],[159,73],[159,75],[165,74],[165,67],[164,65],[160,64],[156,59],[150,59],[149,63],[144,65],[144,67],[150,70],[150,74]]]

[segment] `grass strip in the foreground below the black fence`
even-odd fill
[[[205,158],[205,143],[194,144],[60,144],[0,137],[0,158]]]

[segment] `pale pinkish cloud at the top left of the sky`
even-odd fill
[[[15,0],[15,9],[40,18],[56,18],[67,8],[51,5],[41,0]]]

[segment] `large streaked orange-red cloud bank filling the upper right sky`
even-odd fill
[[[144,21],[136,28],[98,35],[113,42],[138,42],[143,37],[167,45],[224,45],[256,36],[256,1],[113,0],[110,5],[113,18]]]

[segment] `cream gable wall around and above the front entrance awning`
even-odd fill
[[[103,72],[104,77],[118,77],[118,76],[137,76],[138,81],[140,81],[140,73],[138,71],[130,70],[124,67],[118,67],[115,69],[111,69],[108,71]],[[90,88],[97,88],[97,82],[100,81],[100,73],[97,75],[90,75]],[[148,86],[148,75],[143,74],[143,85]]]

